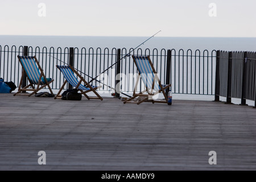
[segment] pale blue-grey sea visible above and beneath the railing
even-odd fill
[[[142,44],[143,43],[143,44]],[[0,35],[0,46],[31,46],[31,47],[77,47],[77,48],[141,48],[144,49],[191,49],[209,52],[222,51],[256,51],[256,38],[204,38],[204,37],[160,37],[160,36],[19,36]],[[174,94],[174,99],[214,100],[214,96],[195,96]],[[221,98],[225,101],[225,98]],[[240,100],[233,99],[234,104]],[[247,104],[254,105],[253,101]]]

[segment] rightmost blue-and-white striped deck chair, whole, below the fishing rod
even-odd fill
[[[168,97],[164,90],[169,88],[171,84],[162,85],[158,75],[155,71],[155,68],[150,60],[150,56],[133,56],[133,61],[137,66],[139,76],[137,77],[137,81],[135,84],[133,97],[124,101],[123,104],[133,103],[133,104],[141,104],[145,101],[151,101],[153,104],[155,102],[166,103],[168,104]],[[136,93],[137,86],[140,78],[142,78],[143,84],[146,86],[146,89],[142,92]],[[164,96],[164,100],[154,100],[153,97],[156,94],[162,93]]]

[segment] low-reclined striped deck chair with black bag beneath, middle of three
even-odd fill
[[[103,98],[96,92],[98,88],[101,88],[101,86],[92,86],[89,85],[88,82],[84,80],[84,78],[71,66],[71,65],[56,65],[56,67],[60,70],[61,73],[63,73],[63,76],[65,78],[65,81],[63,85],[61,86],[59,92],[57,93],[56,98],[61,98],[61,91],[63,90],[64,86],[67,84],[71,84],[74,88],[79,90],[81,94],[83,94],[88,100],[90,99],[100,99],[103,100]],[[77,77],[80,78],[80,81],[77,80]],[[85,85],[82,85],[81,83],[84,82]],[[86,93],[93,92],[96,94],[97,97],[89,97]]]

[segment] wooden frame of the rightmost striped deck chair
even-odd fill
[[[133,57],[133,61],[134,61],[135,65],[136,65],[136,67],[138,69],[139,75],[137,77],[137,81],[136,81],[136,84],[135,84],[135,87],[134,87],[133,97],[131,97],[128,100],[124,101],[123,104],[131,103],[131,104],[138,104],[139,105],[139,104],[141,104],[142,102],[145,102],[145,101],[151,101],[153,104],[155,102],[168,104],[168,97],[166,95],[165,90],[167,88],[170,88],[171,84],[164,85],[164,86],[161,84],[161,82],[159,80],[159,77],[158,77],[158,73],[156,73],[154,65],[152,64],[152,61],[150,60],[150,56],[132,56],[132,57]],[[154,81],[152,82],[152,87],[151,88],[147,88],[147,86],[146,86],[146,89],[143,90],[142,92],[139,92],[139,93],[136,93],[136,92],[137,92],[138,83],[139,83],[139,80],[141,78],[141,74],[142,73],[139,71],[139,67],[137,65],[136,57],[144,57],[144,59],[147,59],[148,63],[150,64],[150,67],[152,68],[152,73],[154,74]],[[155,90],[156,92],[153,93],[152,91],[155,88],[155,82],[156,81],[158,82],[158,85],[159,85],[160,89],[159,90]],[[152,98],[152,97],[156,96],[156,94],[160,94],[160,93],[163,94],[164,100],[154,100]],[[137,98],[137,97],[144,97],[144,98],[142,100],[134,101],[134,99]]]

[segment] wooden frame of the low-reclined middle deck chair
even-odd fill
[[[59,68],[59,65],[56,65],[56,67],[61,71],[61,69]],[[75,87],[75,89],[79,90],[81,94],[83,94],[88,100],[90,99],[100,99],[100,100],[103,100],[103,98],[100,96],[100,94],[97,93],[97,89],[101,88],[102,86],[96,86],[96,87],[92,87],[88,82],[85,81],[84,77],[82,77],[71,65],[68,65],[68,67],[72,70],[73,73],[75,73],[75,75],[77,75],[77,77],[80,78],[80,81],[78,82],[78,84]],[[78,80],[77,80],[78,81]],[[79,86],[81,85],[81,83],[84,82],[86,88],[89,88],[88,90],[82,90],[82,89],[79,89]],[[68,80],[67,78],[65,78],[65,81],[63,83],[63,85],[61,86],[59,92],[57,93],[57,95],[55,96],[55,99],[56,98],[61,98],[61,91],[64,89],[64,86],[68,83]],[[86,93],[88,92],[93,92],[94,94],[96,94],[97,97],[89,97]]]

